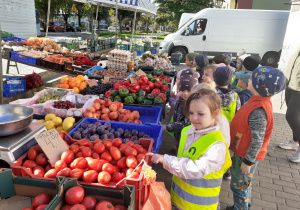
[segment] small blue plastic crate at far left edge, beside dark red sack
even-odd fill
[[[3,96],[13,97],[20,93],[26,92],[26,80],[18,78],[6,78],[6,82],[9,80],[15,80],[16,84],[3,84]]]

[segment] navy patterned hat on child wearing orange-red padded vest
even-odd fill
[[[273,96],[286,87],[286,77],[282,71],[261,66],[252,73],[252,85],[261,97]]]

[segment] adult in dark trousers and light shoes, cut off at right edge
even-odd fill
[[[290,159],[294,163],[300,162],[300,46],[291,56],[285,76],[288,79],[285,90],[285,101],[287,105],[286,120],[293,131],[293,140],[281,143],[278,146],[282,149],[297,150]]]

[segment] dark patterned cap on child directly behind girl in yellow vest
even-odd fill
[[[179,90],[190,91],[194,85],[198,84],[199,74],[193,69],[186,69],[181,72],[179,80]]]

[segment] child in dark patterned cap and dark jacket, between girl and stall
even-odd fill
[[[181,72],[179,80],[179,99],[174,107],[174,114],[171,121],[164,126],[164,130],[167,130],[170,135],[174,136],[176,140],[176,145],[180,140],[181,130],[191,124],[190,120],[184,116],[183,107],[185,101],[190,95],[190,91],[194,85],[198,83],[199,74],[193,69],[186,69]],[[172,149],[172,153],[174,153]]]

